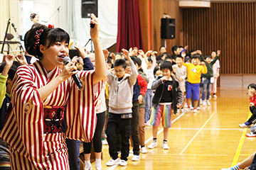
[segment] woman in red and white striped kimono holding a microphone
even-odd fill
[[[0,137],[9,143],[11,169],[69,169],[65,137],[90,142],[97,97],[106,77],[105,59],[98,40],[99,26],[90,35],[95,45],[95,71],[78,72],[83,88],[75,85],[73,62],[63,66],[69,35],[60,28],[36,26],[26,33],[25,46],[39,61],[19,67],[11,91],[12,110]],[[77,47],[85,55],[82,47]],[[59,67],[63,67],[60,69]],[[97,90],[94,90],[97,89]],[[64,107],[66,106],[66,108]],[[64,110],[68,128],[61,131]]]

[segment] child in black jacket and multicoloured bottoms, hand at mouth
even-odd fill
[[[157,146],[156,135],[160,121],[162,121],[164,127],[163,148],[169,149],[167,139],[168,130],[171,128],[171,108],[174,108],[175,114],[177,108],[181,108],[183,103],[183,96],[178,81],[171,76],[171,62],[163,62],[161,64],[161,71],[163,72],[163,77],[156,77],[152,83],[152,89],[156,90],[156,93],[153,97],[153,108],[149,120],[150,124],[153,125],[153,142],[149,145],[149,149]]]

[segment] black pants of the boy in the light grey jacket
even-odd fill
[[[127,161],[129,156],[129,137],[131,133],[131,118],[121,119],[120,114],[110,113],[107,120],[107,142],[109,145],[110,157],[117,159],[116,130],[119,129],[121,135],[121,159]]]

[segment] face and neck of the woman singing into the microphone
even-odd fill
[[[55,42],[55,44],[44,49],[41,62],[46,68],[46,71],[53,70],[57,66],[61,67],[63,65],[63,58],[68,56],[68,52],[68,42],[65,41]]]

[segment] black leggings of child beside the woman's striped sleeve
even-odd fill
[[[92,142],[95,152],[102,152],[102,130],[105,124],[105,112],[97,113],[97,124],[95,129],[95,134],[93,136]],[[92,142],[83,142],[83,148],[85,154],[90,154],[92,150]]]

